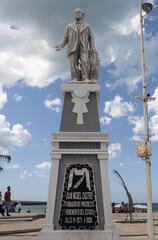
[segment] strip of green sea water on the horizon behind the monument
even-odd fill
[[[135,203],[134,205],[136,205]],[[145,203],[140,203],[146,205]],[[22,213],[30,211],[31,213],[44,213],[46,205],[22,205]],[[158,213],[158,203],[153,203],[153,213]]]

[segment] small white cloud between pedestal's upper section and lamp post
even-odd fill
[[[113,118],[119,118],[134,112],[134,107],[132,103],[123,101],[123,98],[116,95],[114,100],[105,102],[104,112]]]

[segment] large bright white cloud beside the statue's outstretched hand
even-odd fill
[[[23,25],[16,31],[9,27],[9,22],[0,23],[0,81],[4,86],[14,86],[19,80],[28,86],[45,87],[57,78],[67,78],[68,71],[60,71],[60,54],[37,27]],[[7,39],[7,41],[6,41]],[[54,44],[55,45],[55,44]],[[65,63],[60,63],[64,67]],[[62,73],[61,73],[62,72]]]

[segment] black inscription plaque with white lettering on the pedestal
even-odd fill
[[[66,164],[59,229],[99,229],[92,164]]]

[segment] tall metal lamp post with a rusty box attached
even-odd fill
[[[137,144],[137,156],[143,157],[146,162],[146,189],[147,189],[147,210],[148,210],[148,239],[154,240],[153,215],[152,215],[152,191],[151,191],[151,176],[150,176],[150,155],[151,144],[149,141],[149,124],[148,124],[148,106],[147,102],[155,100],[146,93],[146,87],[149,85],[145,82],[145,62],[144,62],[144,41],[143,41],[143,19],[152,10],[151,3],[140,2],[140,26],[141,26],[141,54],[142,54],[142,75],[143,75],[143,96],[137,96],[136,99],[143,101],[144,106],[144,142]],[[146,13],[142,15],[142,10]]]

